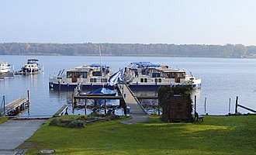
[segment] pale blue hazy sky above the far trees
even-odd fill
[[[256,1],[2,0],[0,42],[256,45]]]

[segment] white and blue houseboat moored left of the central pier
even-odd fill
[[[50,77],[49,87],[54,89],[73,89],[81,86],[82,89],[92,90],[101,88],[112,88],[108,80],[112,74],[111,68],[102,64],[82,65],[66,71],[60,71],[57,76]]]

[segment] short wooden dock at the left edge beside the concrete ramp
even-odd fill
[[[5,108],[1,108],[0,115],[6,115],[6,116],[17,115],[26,107],[29,108],[29,98],[18,98],[15,101],[5,105]]]

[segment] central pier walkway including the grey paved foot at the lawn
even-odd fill
[[[123,100],[126,102],[126,105],[130,106],[130,113],[133,116],[133,119],[123,121],[124,124],[133,124],[135,122],[147,122],[150,119],[145,112],[145,109],[140,104],[140,101],[133,95],[133,91],[130,88],[123,84],[123,88],[120,88],[118,85],[119,91],[123,95]]]

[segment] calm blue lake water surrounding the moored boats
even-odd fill
[[[81,64],[99,63],[99,57],[78,56],[3,56],[5,60],[19,70],[26,60],[36,58],[44,67],[44,72],[29,76],[15,76],[0,79],[0,95],[5,95],[5,102],[9,103],[26,97],[30,91],[30,115],[53,115],[62,105],[71,103],[71,92],[52,91],[48,88],[50,75],[59,71],[70,69]],[[229,112],[229,99],[231,98],[230,112],[234,113],[236,96],[239,104],[256,109],[256,60],[254,59],[227,59],[227,58],[198,58],[198,57],[102,57],[102,64],[112,67],[112,71],[126,67],[132,61],[150,61],[155,64],[168,64],[171,67],[185,69],[187,74],[192,71],[195,77],[202,78],[202,88],[196,89],[197,111],[210,115],[226,115]],[[2,98],[0,98],[2,102]],[[238,108],[241,113],[246,110]],[[84,113],[77,111],[78,113]],[[23,112],[22,115],[27,115]]]

